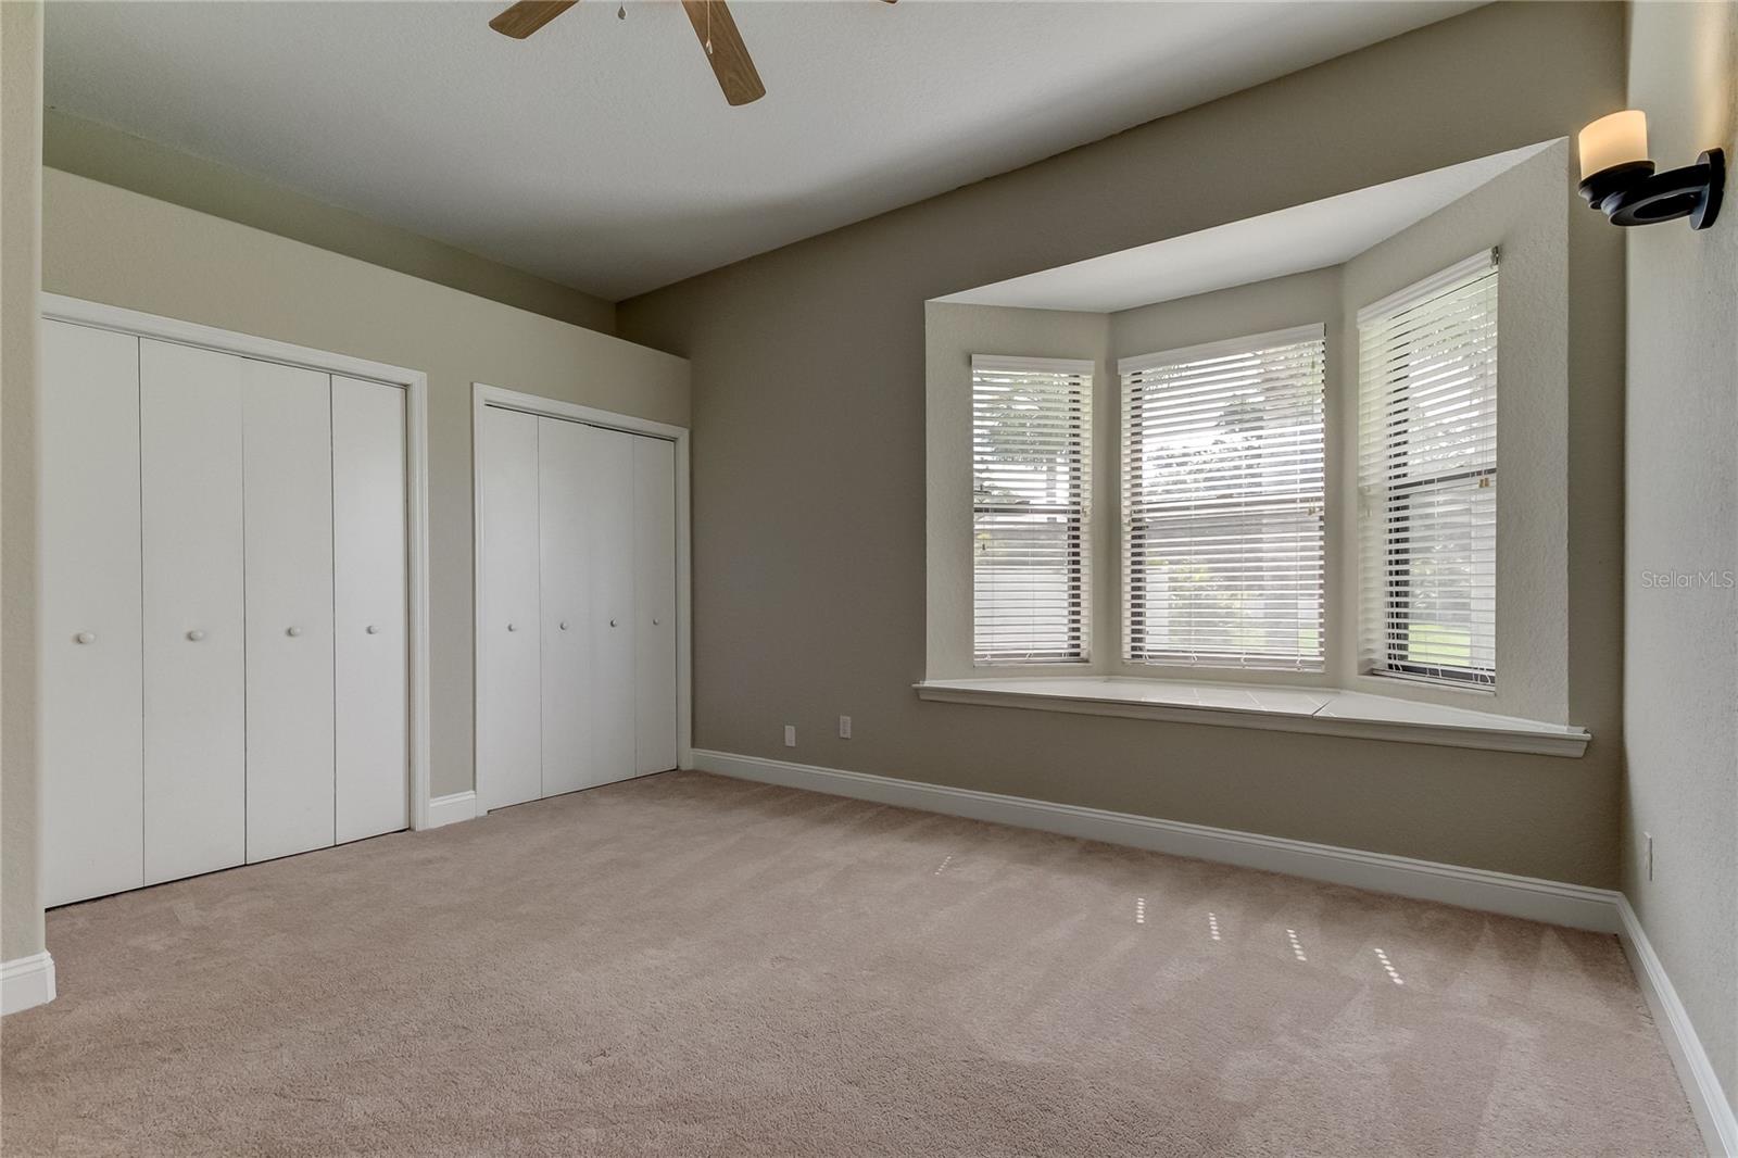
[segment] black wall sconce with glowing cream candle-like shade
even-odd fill
[[[1623,110],[1582,129],[1582,196],[1611,224],[1689,217],[1707,230],[1721,212],[1726,151],[1707,150],[1695,165],[1656,174],[1648,160],[1648,115]]]

